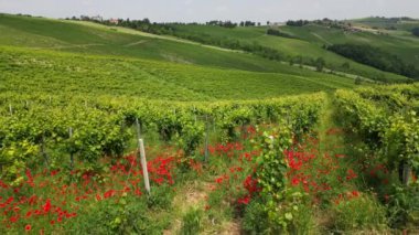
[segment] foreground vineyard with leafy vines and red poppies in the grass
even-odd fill
[[[415,232],[418,97],[417,84],[243,102],[2,95],[0,229]]]

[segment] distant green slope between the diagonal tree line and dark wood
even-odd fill
[[[379,70],[353,62],[335,53],[323,50],[322,45],[331,43],[329,42],[329,39],[333,35],[326,34],[322,36],[321,33],[313,35],[312,32],[307,30],[307,28],[281,28],[281,30],[290,32],[300,39],[286,39],[281,36],[267,35],[267,28],[265,26],[226,29],[222,26],[206,25],[178,25],[178,29],[181,32],[204,34],[218,39],[228,38],[246,43],[257,42],[261,45],[276,49],[286,56],[302,55],[307,60],[323,57],[326,61],[329,67],[334,67],[337,70],[342,66],[343,63],[348,62],[351,64],[351,73],[361,74],[366,77],[385,76],[394,79],[405,78],[404,76],[382,72]],[[342,31],[335,33],[345,36]]]

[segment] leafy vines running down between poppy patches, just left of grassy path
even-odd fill
[[[256,140],[255,143],[259,145],[261,149],[260,156],[256,159],[258,165],[256,178],[261,188],[259,196],[264,204],[264,212],[257,204],[246,211],[246,229],[278,234],[287,231],[307,232],[312,227],[311,214],[300,212],[305,195],[287,186],[286,173],[289,167],[283,151],[292,147],[294,138],[310,131],[318,121],[324,100],[322,102],[320,98],[318,102],[302,106],[299,113],[293,116],[293,121],[287,120],[286,117],[279,119],[277,128],[272,129],[271,132],[264,132],[260,139]],[[254,224],[255,215],[253,213],[266,215],[264,220],[267,221],[268,226],[262,228]]]

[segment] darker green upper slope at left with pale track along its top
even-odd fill
[[[258,72],[296,68],[251,54],[158,39],[127,29],[0,14],[0,44],[85,54],[118,55]]]

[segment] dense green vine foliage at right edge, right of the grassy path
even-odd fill
[[[418,93],[417,85],[339,90],[339,117],[365,143],[379,151],[391,170],[407,163],[418,172]]]

